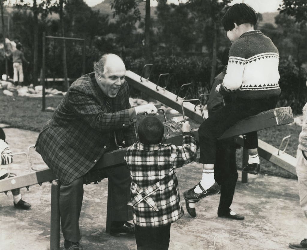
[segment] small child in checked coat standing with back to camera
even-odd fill
[[[182,123],[182,146],[162,144],[164,126],[154,116],[138,126],[138,142],[127,148],[131,201],[138,250],[169,247],[170,225],[183,216],[176,168],[192,162],[198,143],[188,122]]]

